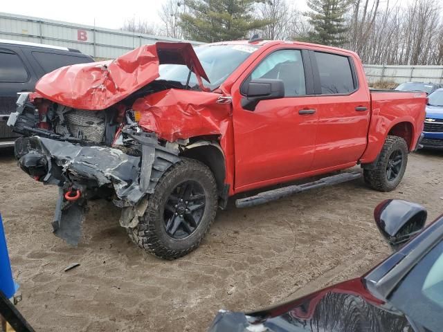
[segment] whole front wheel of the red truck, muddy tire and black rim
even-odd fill
[[[135,228],[127,228],[139,247],[164,259],[197,248],[217,212],[217,185],[210,169],[183,158],[163,174]]]

